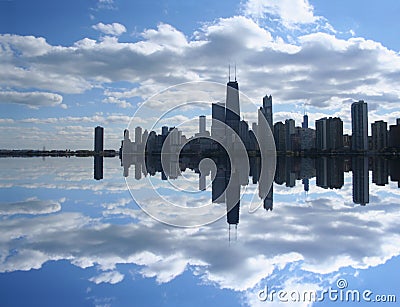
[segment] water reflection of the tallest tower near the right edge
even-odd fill
[[[368,158],[353,157],[353,202],[365,206],[369,203]]]

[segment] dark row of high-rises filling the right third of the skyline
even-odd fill
[[[368,105],[363,100],[351,105],[352,134],[343,134],[339,117],[324,117],[315,121],[315,129],[308,127],[308,116],[303,116],[301,127],[293,119],[274,124],[274,139],[278,152],[398,152],[400,150],[400,119],[395,125],[380,120],[371,124],[368,135]]]

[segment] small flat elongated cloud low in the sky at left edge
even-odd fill
[[[41,106],[61,106],[63,97],[48,92],[0,91],[0,103],[17,103],[37,108]]]

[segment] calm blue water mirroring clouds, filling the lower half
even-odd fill
[[[268,192],[253,159],[237,178],[240,206],[197,228],[157,222],[127,189],[146,204],[157,190],[184,207],[224,208],[218,191],[230,173],[211,183],[197,162],[175,173],[157,159],[147,170],[118,158],[0,159],[0,305],[292,306],[296,293],[340,290],[340,279],[344,298],[368,290],[371,301],[400,300],[399,160],[279,157]],[[287,295],[261,301],[261,290]]]

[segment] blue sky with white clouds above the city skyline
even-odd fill
[[[138,105],[225,84],[233,63],[255,104],[272,94],[275,122],[300,125],[306,110],[311,127],[339,116],[350,133],[365,100],[370,122],[394,124],[399,12],[395,0],[0,1],[0,148],[91,149],[101,125],[118,149]]]

